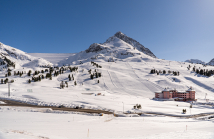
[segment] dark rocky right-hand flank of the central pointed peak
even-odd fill
[[[121,40],[123,40],[123,41],[125,41],[126,43],[132,45],[133,47],[135,47],[139,51],[143,52],[144,54],[156,58],[156,56],[148,48],[145,48],[142,44],[140,44],[136,40],[126,36],[122,32],[119,31],[114,36],[119,38],[119,39],[121,39]]]

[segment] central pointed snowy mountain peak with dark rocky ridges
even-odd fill
[[[88,49],[77,53],[58,64],[79,64],[88,61],[141,61],[143,59],[154,59],[155,55],[139,42],[117,32],[109,37],[104,43],[93,43]]]

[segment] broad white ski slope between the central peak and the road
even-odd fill
[[[181,108],[176,105],[184,104],[184,108],[188,108],[189,104],[186,102],[161,102],[154,101],[154,91],[162,91],[165,87],[176,88],[179,91],[185,91],[192,86],[196,90],[196,99],[206,98],[210,102],[214,102],[213,96],[213,77],[196,76],[185,67],[187,64],[178,62],[168,62],[157,60],[156,62],[147,64],[139,64],[141,62],[117,61],[117,62],[97,62],[102,65],[102,68],[96,68],[90,62],[78,65],[77,72],[65,71],[57,77],[43,79],[40,82],[27,83],[31,77],[24,74],[22,77],[10,76],[15,82],[11,84],[11,96],[9,99],[28,102],[35,105],[51,105],[66,107],[82,106],[90,109],[102,109],[115,112],[122,112],[124,103],[125,111],[135,111],[133,106],[140,103],[144,106],[143,111],[155,111],[171,114],[182,115]],[[150,65],[149,65],[150,64]],[[77,66],[77,65],[75,65]],[[169,68],[170,70],[179,70],[179,76],[172,74],[150,74],[150,68],[155,66],[158,70]],[[212,67],[206,67],[212,68]],[[30,68],[29,68],[30,69]],[[26,72],[29,70],[25,68]],[[36,70],[45,68],[37,67]],[[88,70],[98,70],[102,73],[102,77],[90,79]],[[31,69],[33,70],[33,69]],[[4,78],[6,71],[1,71],[1,78]],[[40,73],[41,74],[41,73]],[[74,76],[74,80],[69,81],[68,75]],[[172,78],[176,78],[175,81]],[[193,80],[194,79],[194,80]],[[99,80],[100,83],[97,83]],[[68,88],[60,89],[61,81],[68,82]],[[77,86],[74,85],[77,82]],[[203,84],[203,85],[202,85]],[[8,85],[0,84],[0,97],[8,98]],[[33,92],[27,92],[27,89],[32,89]],[[93,93],[93,95],[84,95],[82,93]],[[96,96],[95,94],[102,95]],[[122,103],[123,102],[123,103]],[[170,105],[173,104],[171,109]],[[159,106],[159,107],[157,107]],[[194,113],[212,112],[212,106],[207,106],[205,109],[200,109],[195,106]]]

